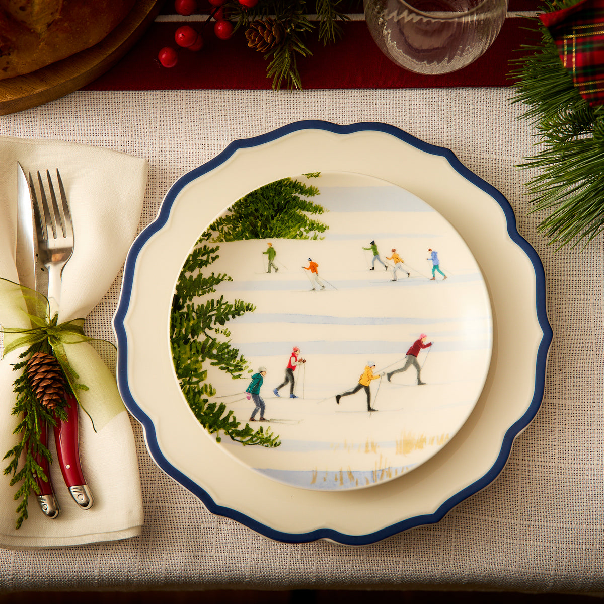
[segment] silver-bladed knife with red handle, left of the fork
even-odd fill
[[[37,291],[36,237],[34,237],[32,196],[25,172],[21,164],[19,162],[17,164],[17,248],[15,263],[19,283],[26,288]],[[48,447],[47,425],[40,426],[40,442]],[[40,495],[36,495],[36,499],[42,512],[48,518],[57,518],[60,507],[57,498],[54,496],[48,460],[39,457],[36,458],[36,461],[48,477],[48,482],[43,481],[42,478],[36,478],[37,486],[40,489]]]

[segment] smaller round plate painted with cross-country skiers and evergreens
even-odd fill
[[[202,178],[190,187],[208,194]],[[178,284],[173,309],[189,320],[188,291],[203,316],[195,342],[228,344],[191,358],[191,329],[178,331],[185,400],[196,408],[199,359],[206,402],[271,434],[271,446],[221,432],[213,442],[292,486],[360,489],[416,469],[463,425],[489,369],[490,303],[474,256],[428,204],[371,176],[295,175],[233,200]],[[221,324],[219,304],[236,300],[251,306]]]

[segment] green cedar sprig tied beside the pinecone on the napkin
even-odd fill
[[[67,414],[63,408],[57,406],[51,413],[45,406],[40,405],[34,391],[31,389],[27,372],[24,371],[30,356],[34,352],[51,353],[48,342],[34,344],[25,352],[19,355],[19,361],[13,365],[13,370],[18,371],[19,375],[13,382],[13,389],[16,393],[16,402],[13,406],[11,415],[18,416],[18,425],[13,434],[20,434],[21,440],[4,455],[4,460],[9,460],[4,468],[4,475],[11,474],[10,486],[19,484],[19,488],[14,494],[14,500],[19,501],[16,512],[16,528],[21,527],[28,518],[27,506],[31,493],[39,495],[40,489],[36,483],[36,476],[48,481],[47,475],[42,467],[37,463],[36,458],[45,458],[52,463],[52,456],[48,448],[40,442],[40,429],[45,423],[49,426],[55,426],[57,419],[66,419]],[[19,462],[22,465],[19,467]]]

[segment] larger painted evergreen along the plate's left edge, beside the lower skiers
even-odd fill
[[[206,231],[189,255],[172,300],[170,342],[176,376],[195,417],[210,434],[217,434],[217,442],[220,442],[219,434],[222,431],[243,445],[275,447],[280,442],[270,428],[265,430],[261,426],[254,431],[247,423],[242,428],[233,411],[225,414],[224,403],[210,402],[209,397],[216,396],[216,390],[207,381],[205,364],[209,362],[233,377],[242,377],[243,372],[248,370],[248,364],[239,355],[239,350],[231,346],[230,332],[225,323],[255,307],[242,300],[228,302],[223,296],[209,298],[202,304],[194,300],[214,294],[217,285],[233,280],[226,274],[211,272],[207,275],[207,271],[205,274],[202,272],[219,257],[219,246],[205,243],[207,237]]]

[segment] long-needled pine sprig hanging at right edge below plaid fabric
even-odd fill
[[[546,2],[547,12],[572,6],[577,0]],[[539,150],[524,158],[520,169],[538,169],[527,182],[533,210],[547,211],[538,226],[557,249],[580,242],[587,245],[604,231],[604,106],[590,106],[562,65],[550,32],[535,18],[541,43],[514,61],[518,80],[512,103],[528,105]]]

